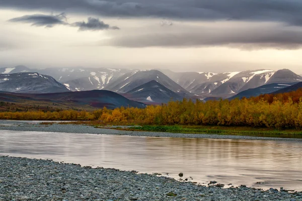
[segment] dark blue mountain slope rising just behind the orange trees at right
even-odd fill
[[[282,88],[286,88],[286,87],[292,86],[294,84],[296,84],[296,82],[288,83],[288,84],[283,84],[283,83],[265,84],[265,85],[259,86],[257,88],[250,88],[250,89],[241,91],[240,93],[232,96],[229,99],[252,97],[252,96],[258,96],[258,95],[265,94],[265,93],[272,93],[274,91],[278,91]]]

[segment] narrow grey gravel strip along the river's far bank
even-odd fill
[[[10,126],[4,125],[10,123],[14,125],[10,125]],[[4,121],[4,120],[0,120],[0,130],[39,131],[39,132],[57,132],[57,133],[87,133],[87,134],[103,134],[103,135],[129,135],[129,136],[172,137],[172,138],[302,141],[302,139],[296,139],[296,138],[120,131],[120,130],[113,130],[113,129],[94,128],[93,126],[87,126],[87,125],[56,124],[56,123],[52,125],[51,124],[40,125],[40,124],[29,124],[28,122],[22,122],[22,121]]]

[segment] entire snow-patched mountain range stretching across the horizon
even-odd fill
[[[26,66],[16,66],[0,68],[0,73],[5,82],[9,81],[5,80],[5,76],[15,76],[16,73],[21,73],[16,75],[20,79],[23,75],[30,74],[32,78],[48,78],[44,78],[44,86],[48,85],[49,88],[43,88],[43,81],[29,82],[29,78],[24,78],[27,84],[22,84],[23,88],[17,84],[17,79],[16,83],[13,83],[12,79],[6,84],[3,82],[3,87],[0,83],[0,90],[3,91],[49,93],[105,89],[146,104],[167,103],[171,99],[180,100],[184,97],[215,99],[254,96],[274,92],[278,87],[302,81],[300,75],[288,69],[213,73],[81,67],[30,69]],[[52,80],[52,83],[46,80]],[[28,85],[27,88],[25,85]],[[39,87],[35,88],[36,85]]]

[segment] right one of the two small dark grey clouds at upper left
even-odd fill
[[[106,30],[106,29],[119,29],[114,26],[111,27],[108,24],[105,24],[103,21],[100,21],[96,18],[88,18],[88,22],[75,22],[72,23],[71,26],[79,27],[79,31],[98,31],[98,30]]]

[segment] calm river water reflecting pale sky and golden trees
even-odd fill
[[[0,131],[0,155],[302,190],[302,142]],[[257,181],[263,184],[255,184]]]

